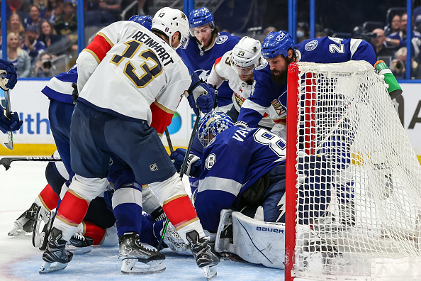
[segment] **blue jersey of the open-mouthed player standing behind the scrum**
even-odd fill
[[[215,38],[213,47],[208,50],[201,50],[196,38],[190,38],[187,48],[185,50],[179,48],[176,52],[184,60],[189,70],[193,70],[199,78],[203,78],[206,81],[208,75],[211,73],[215,60],[218,57],[222,57],[229,50],[232,50],[238,41],[240,41],[240,37],[232,36],[227,32],[221,32]],[[228,82],[223,82],[218,88],[218,106],[232,104],[232,93]]]

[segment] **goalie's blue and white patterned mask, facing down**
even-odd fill
[[[233,126],[230,116],[223,112],[211,111],[199,121],[198,139],[201,141],[203,148],[215,141],[216,136],[220,132]]]

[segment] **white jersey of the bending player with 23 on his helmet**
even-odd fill
[[[232,69],[231,53],[232,51],[230,50],[222,57],[219,57],[217,60],[215,60],[215,64],[212,67],[211,74],[208,76],[207,82],[209,84],[216,85],[216,87],[219,87],[220,84],[228,80],[228,84],[234,92],[232,94],[232,104],[234,104],[235,109],[240,112],[242,103],[250,97],[250,93],[252,92],[252,85],[242,81],[237,72]],[[262,58],[262,60],[264,59]],[[262,63],[265,64],[266,61]],[[259,121],[259,125],[266,128],[272,128],[276,124],[273,119],[279,119],[279,116],[276,113],[274,107],[269,106],[269,108],[266,109],[262,120]]]

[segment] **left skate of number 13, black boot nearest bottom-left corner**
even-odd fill
[[[51,229],[47,249],[43,253],[44,263],[41,265],[40,273],[54,272],[66,268],[67,263],[72,260],[73,254],[65,249],[67,241],[62,239],[63,232],[55,227]],[[52,266],[52,263],[57,265]]]

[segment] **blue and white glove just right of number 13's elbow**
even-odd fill
[[[200,115],[198,109],[200,109],[203,113],[212,111],[216,97],[215,89],[213,89],[209,84],[201,81],[195,72],[191,75],[191,85],[187,90],[187,94],[188,95],[186,95],[186,97],[189,101],[190,107],[197,116]]]

